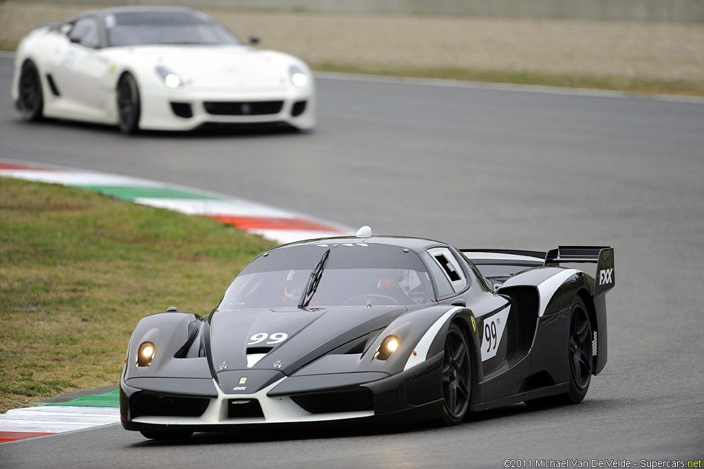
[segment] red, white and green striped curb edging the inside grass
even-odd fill
[[[0,177],[80,187],[136,204],[203,215],[280,243],[353,232],[341,225],[254,201],[138,177],[9,161],[0,161]],[[67,403],[63,406],[18,408],[0,414],[0,443],[119,421],[120,410],[115,407],[71,406]]]

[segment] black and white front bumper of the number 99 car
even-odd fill
[[[289,423],[334,422],[345,420],[425,420],[439,417],[441,400],[442,354],[417,365],[406,372],[384,376],[371,382],[341,388],[326,387],[331,376],[309,375],[303,381],[307,392],[278,395],[275,388],[288,377],[269,384],[253,394],[225,394],[215,382],[213,396],[174,394],[151,389],[131,387],[120,382],[120,418],[126,430],[166,430],[178,427],[192,431],[225,431],[239,425],[276,425]],[[348,375],[372,373],[339,373],[342,380]],[[377,378],[379,377],[377,376]],[[168,380],[168,378],[161,378]],[[334,378],[332,379],[334,380]],[[213,380],[215,381],[215,380]],[[299,379],[299,381],[301,381]],[[318,389],[310,384],[320,382]],[[296,386],[301,383],[298,382]],[[284,388],[285,389],[285,388]],[[301,388],[303,389],[303,388]],[[140,396],[140,394],[142,396]],[[139,407],[139,399],[163,400],[173,403],[165,406]],[[367,397],[368,396],[368,400]],[[155,401],[150,401],[155,402]],[[158,411],[156,409],[158,408]],[[146,410],[145,410],[146,409]],[[149,415],[158,413],[161,415]],[[170,414],[170,415],[163,415]]]

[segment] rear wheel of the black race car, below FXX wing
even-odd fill
[[[570,366],[570,387],[564,394],[525,401],[529,407],[579,404],[589,390],[592,372],[591,323],[586,306],[579,296],[572,301],[570,332],[567,335],[567,357]]]

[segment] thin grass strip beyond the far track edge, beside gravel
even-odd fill
[[[398,77],[446,78],[474,82],[515,83],[553,87],[614,89],[633,93],[686,94],[704,96],[704,80],[657,80],[618,76],[555,75],[540,72],[474,70],[459,67],[404,67],[400,65],[354,65],[351,63],[312,63],[315,70],[326,72],[367,73]]]

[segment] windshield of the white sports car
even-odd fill
[[[139,11],[106,15],[108,46],[241,44],[208,15],[189,11]]]

